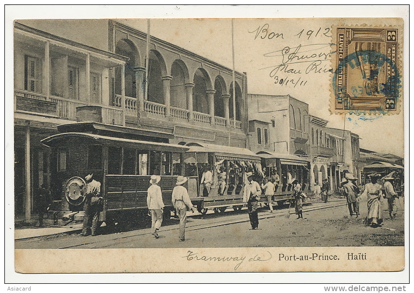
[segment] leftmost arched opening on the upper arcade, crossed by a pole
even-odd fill
[[[137,86],[135,83],[134,68],[138,67],[138,64],[139,64],[138,50],[130,40],[121,39],[115,47],[115,53],[129,58],[129,60],[125,64],[125,95],[127,97],[136,98],[137,97]],[[121,68],[117,67],[115,70],[115,93],[116,94],[121,94],[121,87],[122,87],[121,74],[122,74]]]

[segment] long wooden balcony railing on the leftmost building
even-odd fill
[[[119,107],[93,104],[86,101],[67,99],[57,96],[15,90],[15,110],[18,112],[36,113],[44,116],[76,120],[76,107],[102,107],[102,122],[107,124],[123,125],[122,110]]]

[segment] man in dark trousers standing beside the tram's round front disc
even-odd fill
[[[101,197],[101,183],[92,179],[93,174],[88,174],[85,177],[86,193],[85,193],[85,217],[82,227],[82,236],[96,235],[98,229],[99,212],[102,210],[103,200]]]

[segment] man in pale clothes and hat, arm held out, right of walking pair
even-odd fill
[[[172,202],[177,215],[180,218],[180,241],[185,241],[186,233],[186,222],[187,222],[187,210],[191,210],[194,213],[194,207],[190,201],[189,193],[187,188],[182,186],[182,184],[187,182],[187,178],[184,176],[177,177],[177,183],[173,189]]]

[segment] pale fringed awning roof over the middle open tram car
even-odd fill
[[[202,147],[192,146],[187,153],[214,153],[216,159],[219,160],[232,160],[232,161],[248,161],[251,163],[260,163],[260,158],[255,155],[251,150],[243,147],[228,147],[211,144],[199,144]],[[187,154],[186,153],[186,154]],[[198,156],[198,155],[197,155]],[[200,162],[199,162],[200,163]]]

